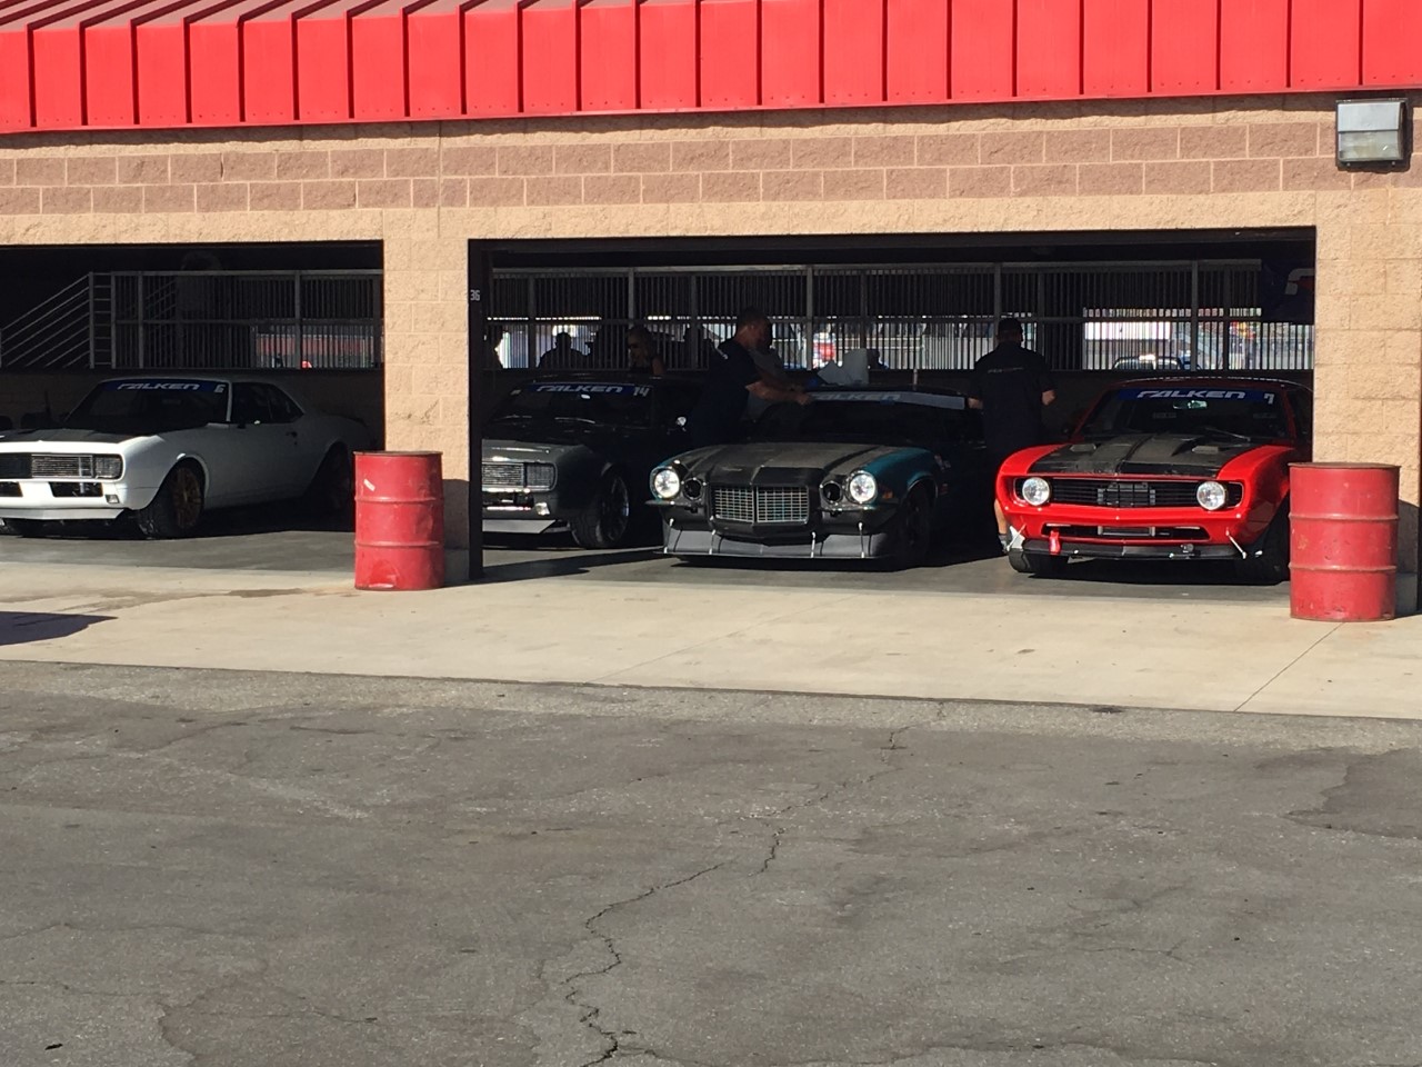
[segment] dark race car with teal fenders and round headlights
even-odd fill
[[[684,452],[651,472],[667,555],[913,568],[950,525],[987,514],[981,421],[964,397],[813,396],[808,407],[772,407],[748,441]]]

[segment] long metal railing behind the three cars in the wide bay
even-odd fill
[[[1246,259],[506,269],[495,272],[491,320],[510,368],[621,367],[634,324],[670,367],[701,367],[754,304],[789,367],[869,349],[894,370],[967,370],[1011,314],[1058,370],[1308,370],[1313,326],[1266,320],[1260,269]]]

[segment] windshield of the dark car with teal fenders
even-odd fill
[[[830,393],[819,394],[805,407],[778,404],[769,408],[751,431],[751,440],[931,447],[944,441],[953,418],[968,418],[961,397]]]

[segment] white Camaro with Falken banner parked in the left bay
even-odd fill
[[[60,430],[0,432],[0,519],[16,534],[132,514],[149,538],[192,534],[205,511],[306,495],[351,499],[360,423],[255,377],[109,378]]]

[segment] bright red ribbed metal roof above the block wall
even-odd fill
[[[0,131],[1422,87],[1419,0],[0,0]]]

